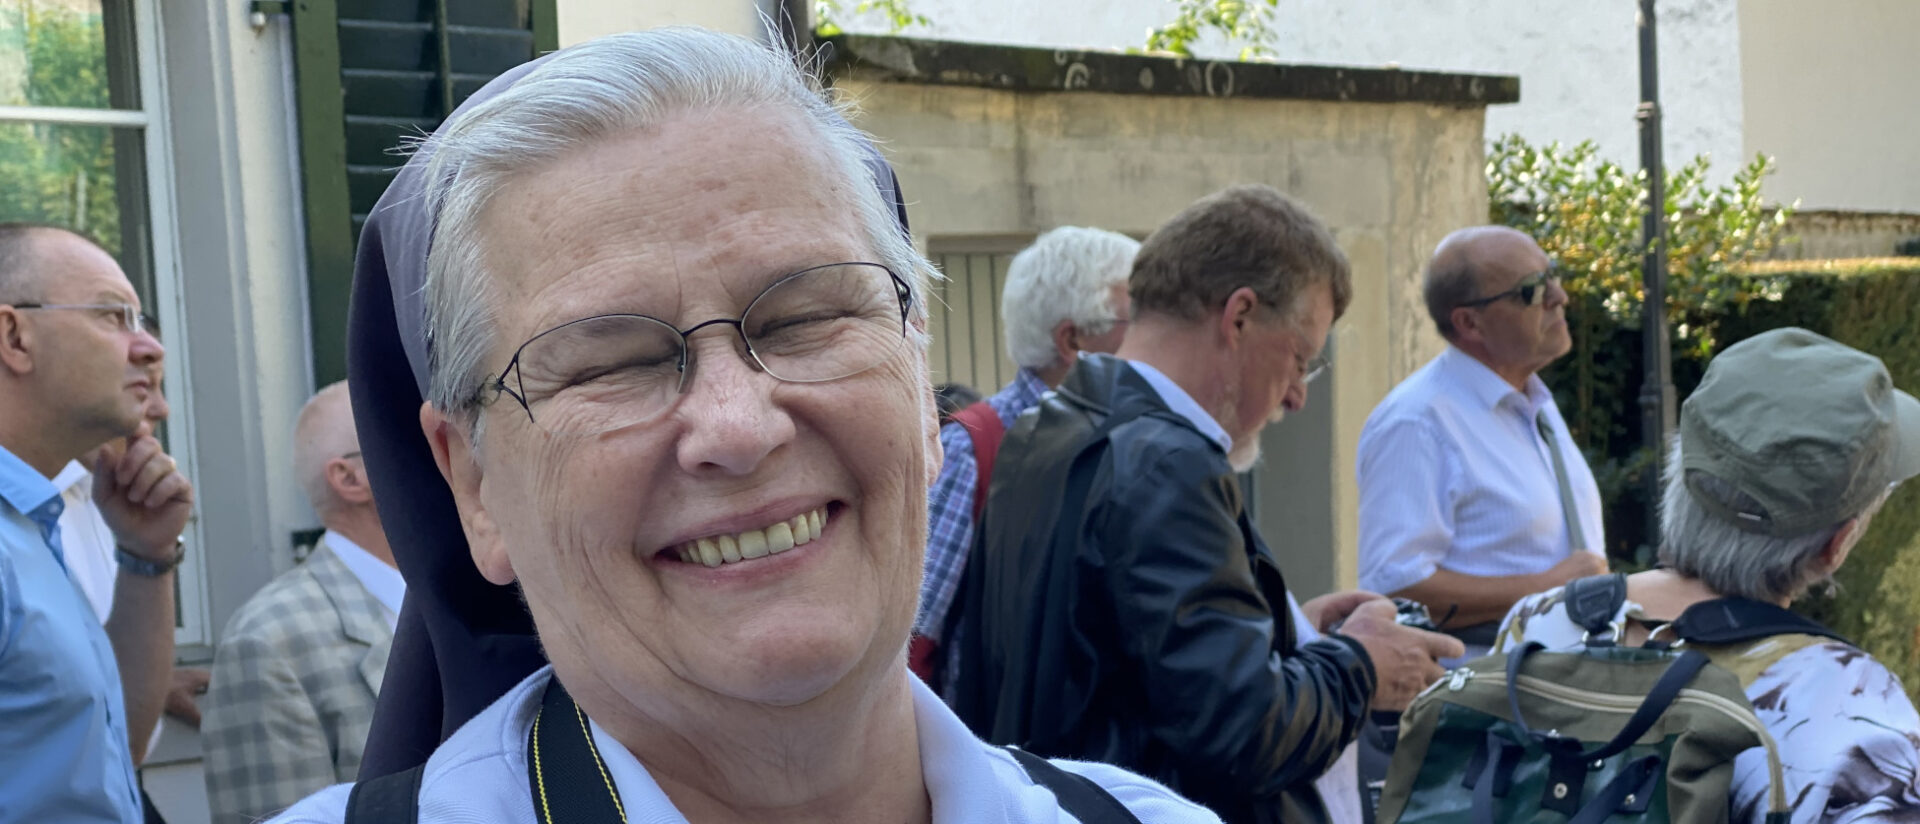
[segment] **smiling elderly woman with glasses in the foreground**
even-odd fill
[[[787,56],[588,42],[428,150],[420,428],[553,666],[401,812],[388,782],[280,820],[1217,820],[989,747],[908,674],[931,267]]]

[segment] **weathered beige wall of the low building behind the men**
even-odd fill
[[[1068,73],[1071,56],[1060,65]],[[924,61],[916,71],[958,77]],[[1275,551],[1302,597],[1354,586],[1359,428],[1442,346],[1419,273],[1440,236],[1486,221],[1484,104],[1006,90],[899,83],[860,63],[835,85],[883,140],[914,234],[935,244],[1058,225],[1144,236],[1235,182],[1309,204],[1354,263],[1356,298],[1311,409],[1267,430],[1256,499],[1263,532],[1284,536]]]

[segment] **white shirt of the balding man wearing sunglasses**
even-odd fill
[[[1544,572],[1572,551],[1553,426],[1586,547],[1605,551],[1599,486],[1538,375],[1515,390],[1448,348],[1373,409],[1359,434],[1359,586],[1400,592],[1438,569],[1471,576]]]

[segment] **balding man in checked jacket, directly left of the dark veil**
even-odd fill
[[[294,474],[326,534],[234,613],[213,655],[202,741],[217,824],[253,822],[353,780],[407,592],[344,380],[300,411]]]

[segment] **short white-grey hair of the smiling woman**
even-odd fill
[[[465,419],[478,438],[476,400],[492,378],[486,357],[499,313],[480,217],[503,186],[614,134],[685,113],[751,108],[793,111],[812,127],[833,173],[852,182],[847,207],[858,213],[877,263],[908,282],[914,319],[924,319],[927,280],[937,275],[881,198],[866,163],[870,140],[847,121],[847,104],[829,100],[776,46],[691,27],[612,35],[557,52],[422,144],[430,154],[424,206],[434,227],[424,288],[428,401]],[[925,336],[914,334],[924,346]]]

